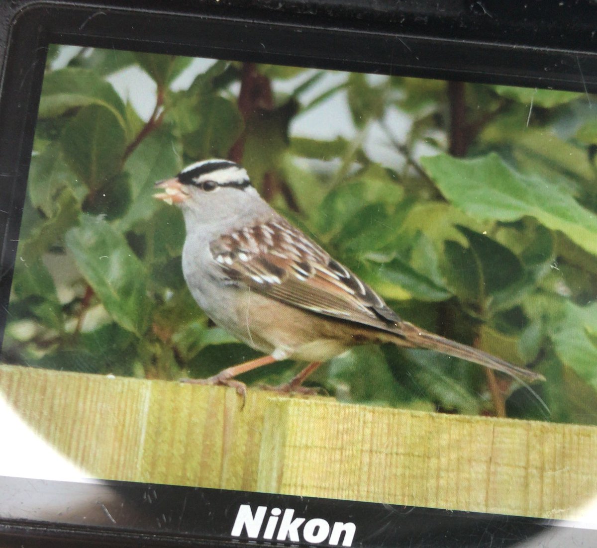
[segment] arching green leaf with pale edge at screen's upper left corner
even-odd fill
[[[56,70],[44,77],[38,116],[53,118],[92,104],[110,110],[122,128],[125,127],[124,103],[109,82],[92,70]]]

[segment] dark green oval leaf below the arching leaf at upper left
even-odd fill
[[[111,110],[89,106],[64,127],[60,144],[70,168],[96,190],[120,170],[127,143],[125,130]]]

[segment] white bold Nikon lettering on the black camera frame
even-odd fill
[[[290,508],[285,509],[284,513],[279,508],[272,508],[267,520],[266,515],[267,506],[257,506],[253,514],[249,504],[241,504],[232,527],[232,536],[240,537],[244,529],[249,538],[294,542],[304,540],[309,544],[325,543],[327,546],[352,546],[355,537],[356,526],[350,522],[337,521],[330,525],[321,518],[306,521],[306,518],[295,518],[294,510]]]

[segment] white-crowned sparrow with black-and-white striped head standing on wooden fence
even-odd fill
[[[199,383],[234,386],[244,394],[235,375],[287,358],[312,362],[288,383],[296,390],[321,362],[365,343],[436,350],[519,380],[543,379],[399,318],[261,199],[234,162],[196,162],[156,186],[164,190],[156,198],[183,212],[183,273],[193,297],[217,325],[266,353]]]

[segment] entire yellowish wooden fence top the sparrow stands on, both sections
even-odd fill
[[[589,426],[259,390],[241,409],[233,389],[8,365],[0,397],[96,478],[548,518],[597,492]]]

